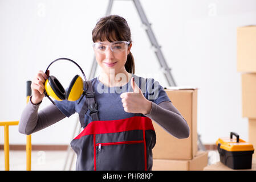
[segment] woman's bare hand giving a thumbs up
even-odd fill
[[[144,97],[141,89],[137,86],[134,77],[132,77],[131,85],[133,92],[125,92],[120,95],[124,111],[127,113],[150,113],[152,107],[151,101]]]

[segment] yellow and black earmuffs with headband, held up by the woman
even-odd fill
[[[80,71],[82,72],[82,74],[84,76],[84,80],[85,80],[84,83],[86,84],[86,90],[87,90],[87,88],[88,88],[87,79],[86,79],[86,75],[84,75],[82,68],[75,61],[68,59],[68,58],[56,59],[56,60],[52,61],[51,64],[58,60],[68,60],[78,66],[78,68],[80,69]],[[47,73],[50,65],[48,65],[45,73]],[[79,75],[76,75],[71,80],[70,86],[68,86],[68,88],[66,90],[63,88],[62,84],[60,84],[60,82],[58,81],[58,79],[55,76],[49,76],[47,78],[47,80],[44,82],[44,88],[45,88],[45,90],[44,90],[45,96],[48,97],[53,104],[55,104],[55,103],[54,103],[54,101],[51,100],[51,98],[49,96],[51,96],[52,98],[54,98],[57,101],[63,101],[63,100],[76,101],[82,96],[82,94],[84,95],[86,93],[86,90],[83,89],[84,88],[83,79]],[[80,101],[81,100],[82,100],[82,98],[80,99]],[[78,104],[79,104],[79,102],[78,102]]]

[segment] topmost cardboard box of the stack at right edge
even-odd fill
[[[237,28],[237,71],[256,72],[256,26]]]

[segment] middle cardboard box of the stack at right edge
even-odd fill
[[[256,118],[256,73],[243,73],[241,76],[242,117]]]

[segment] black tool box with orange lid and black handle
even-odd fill
[[[233,139],[233,135],[236,137]],[[250,169],[253,145],[239,139],[239,135],[231,132],[230,137],[219,138],[216,142],[220,160],[231,169]]]

